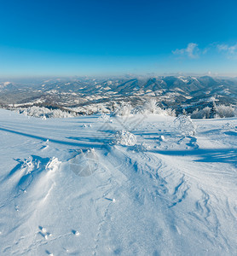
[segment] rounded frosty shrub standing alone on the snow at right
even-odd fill
[[[188,115],[180,114],[175,120],[174,124],[178,131],[184,136],[194,136],[196,132],[196,125]]]

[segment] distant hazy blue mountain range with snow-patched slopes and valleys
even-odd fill
[[[98,103],[130,102],[131,105],[156,99],[162,108],[204,108],[237,104],[237,79],[210,76],[120,77],[110,79],[28,79],[0,82],[0,104],[9,107],[59,106],[76,108]],[[10,104],[10,105],[9,105]]]

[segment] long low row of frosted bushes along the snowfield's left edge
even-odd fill
[[[30,107],[30,108],[17,108],[17,113],[23,113],[25,115],[37,117],[37,118],[71,118],[77,116],[77,113],[68,113],[61,111],[61,109],[49,109],[44,107]]]

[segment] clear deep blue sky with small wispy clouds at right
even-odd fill
[[[237,76],[236,0],[0,0],[0,76]]]

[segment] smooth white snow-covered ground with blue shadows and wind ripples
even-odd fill
[[[237,119],[173,120],[0,110],[0,255],[236,255]]]

